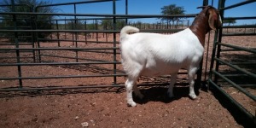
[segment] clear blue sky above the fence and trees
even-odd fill
[[[45,0],[51,3],[71,3],[81,2],[84,0]],[[85,0],[86,1],[86,0]],[[163,6],[176,4],[183,7],[185,14],[198,14],[201,9],[196,9],[202,5],[203,0],[128,0],[128,14],[129,15],[160,15]],[[245,0],[226,0],[225,5],[233,5],[235,3],[241,3]],[[212,0],[209,0],[209,4],[212,4]],[[218,0],[213,0],[213,7],[218,8]],[[59,9],[59,13],[73,13],[73,5],[55,6]],[[113,3],[87,3],[76,5],[77,14],[113,14]],[[236,9],[225,10],[225,17],[242,17],[242,16],[256,16],[256,3],[249,3]],[[116,1],[116,14],[125,15],[125,0]],[[151,19],[137,19],[142,22],[155,23],[160,21],[156,18]],[[136,20],[130,20],[136,21]],[[190,23],[192,20],[190,21]],[[256,20],[236,20],[236,25],[256,24]]]

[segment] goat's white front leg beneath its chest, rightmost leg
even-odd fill
[[[197,71],[196,67],[190,68],[189,69],[189,96],[195,100],[196,95],[195,95],[195,90],[194,90],[194,86],[195,86],[195,73]]]

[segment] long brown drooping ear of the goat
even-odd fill
[[[216,31],[216,27],[218,27],[218,15],[216,14],[214,9],[209,9],[209,20],[208,24],[212,28],[212,30]]]

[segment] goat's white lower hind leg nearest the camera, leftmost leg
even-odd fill
[[[127,105],[131,107],[136,106],[136,102],[133,102],[133,99],[132,99],[132,88],[135,83],[136,83],[136,79],[127,79],[125,82]]]

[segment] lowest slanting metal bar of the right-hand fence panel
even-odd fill
[[[213,85],[212,87],[214,87],[214,89],[217,89],[219,92],[221,92],[221,94],[223,94],[230,101],[230,103],[234,104],[236,108],[238,108],[242,113],[245,113],[249,119],[252,119],[252,120],[255,119],[255,116],[253,116],[252,113],[248,112],[246,108],[243,108],[239,102],[236,102],[236,100],[233,97],[231,97],[224,90],[222,90],[218,86],[218,84],[215,84],[212,81],[212,79],[209,79],[209,84],[212,84]]]

